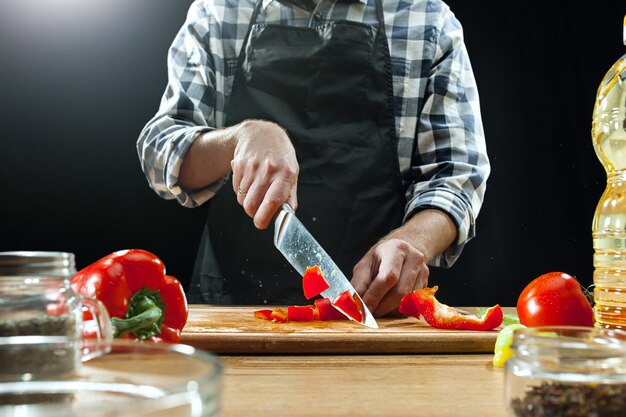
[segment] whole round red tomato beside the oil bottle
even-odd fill
[[[580,284],[565,272],[532,280],[517,300],[524,326],[593,326],[593,309]]]

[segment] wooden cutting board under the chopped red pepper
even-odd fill
[[[378,319],[378,329],[351,321],[273,323],[254,317],[262,308],[271,307],[191,305],[181,343],[219,354],[492,353],[498,334],[440,330],[413,317]]]

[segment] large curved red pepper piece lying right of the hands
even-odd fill
[[[482,317],[463,314],[440,303],[435,298],[438,286],[413,291],[402,298],[398,311],[415,318],[424,317],[426,323],[437,329],[492,330],[502,324],[502,309],[498,304],[489,308]]]

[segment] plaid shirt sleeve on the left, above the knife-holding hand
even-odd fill
[[[182,159],[196,136],[215,128],[215,66],[210,45],[210,18],[202,2],[195,2],[169,49],[168,85],[157,114],[137,141],[141,167],[150,187],[162,198],[196,207],[210,199],[226,181],[197,193],[178,185]]]

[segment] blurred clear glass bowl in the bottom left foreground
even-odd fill
[[[20,364],[0,367],[0,417],[218,414],[222,366],[213,354],[114,340],[81,363],[75,345],[61,336],[0,338],[0,361]]]

